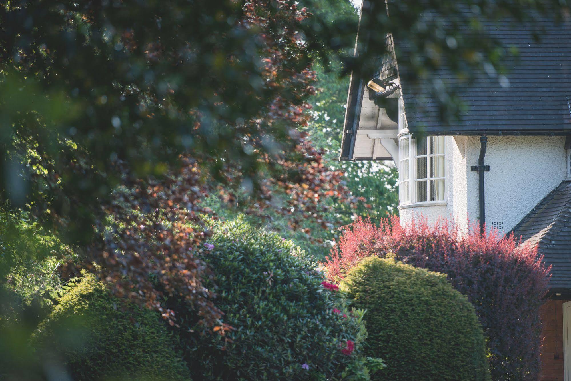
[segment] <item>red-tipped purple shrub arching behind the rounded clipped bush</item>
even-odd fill
[[[452,286],[476,307],[489,352],[493,379],[534,379],[540,369],[540,308],[549,268],[532,248],[518,248],[513,236],[480,235],[440,220],[403,227],[396,216],[376,226],[358,219],[344,232],[323,263],[338,280],[360,259],[394,256],[401,262],[448,275]]]

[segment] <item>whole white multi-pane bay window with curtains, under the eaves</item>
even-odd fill
[[[400,138],[400,203],[444,202],[444,137]]]

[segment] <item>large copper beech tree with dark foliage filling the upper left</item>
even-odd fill
[[[201,200],[247,192],[295,227],[326,197],[355,202],[299,130],[315,73],[295,2],[10,1],[0,14],[3,197],[74,247],[64,272],[89,267],[171,324],[162,296],[182,295],[224,332],[202,283],[215,216]]]

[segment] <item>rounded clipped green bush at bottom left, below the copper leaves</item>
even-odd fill
[[[85,274],[59,299],[31,344],[54,379],[187,380],[171,335],[157,312],[126,305]]]

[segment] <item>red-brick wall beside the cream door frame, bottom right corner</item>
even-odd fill
[[[563,303],[549,300],[542,311],[545,340],[541,348],[541,381],[562,381],[563,378]]]

